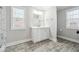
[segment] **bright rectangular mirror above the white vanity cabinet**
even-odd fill
[[[32,26],[44,26],[44,11],[39,9],[33,9]]]

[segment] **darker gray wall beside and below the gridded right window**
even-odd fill
[[[79,40],[79,34],[76,34],[77,30],[72,30],[72,29],[66,28],[66,14],[65,14],[66,10],[67,9],[57,12],[58,35]]]

